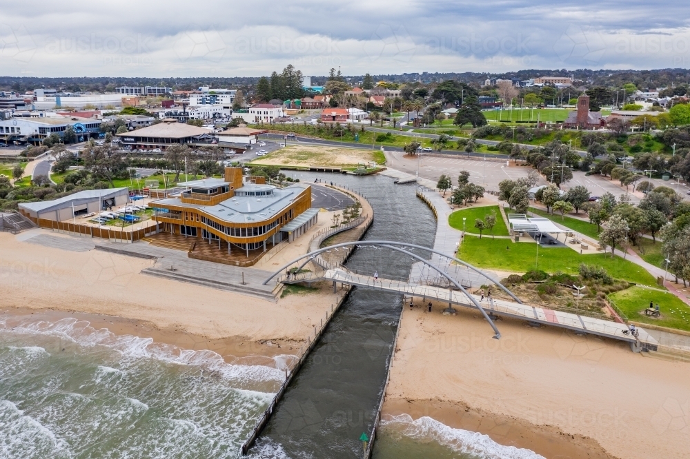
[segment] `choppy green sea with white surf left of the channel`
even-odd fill
[[[235,458],[285,360],[229,365],[72,318],[0,318],[0,458]]]

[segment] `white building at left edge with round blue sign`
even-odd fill
[[[81,119],[77,116],[13,117],[0,121],[0,141],[40,145],[50,134],[63,137],[68,127],[77,134],[77,141],[97,139],[101,132],[101,120]]]

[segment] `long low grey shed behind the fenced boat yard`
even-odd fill
[[[19,212],[34,223],[39,218],[52,221],[69,221],[75,216],[101,212],[109,207],[127,203],[129,191],[124,188],[84,190],[52,201],[20,203]]]

